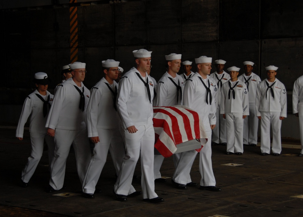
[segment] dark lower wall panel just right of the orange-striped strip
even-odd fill
[[[91,89],[95,84],[104,77],[102,71],[102,60],[114,59],[114,48],[113,47],[88,47],[85,48],[85,60],[86,70],[85,86]],[[116,60],[119,61],[119,60]]]

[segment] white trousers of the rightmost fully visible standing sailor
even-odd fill
[[[281,153],[281,112],[261,112],[261,153],[270,154],[270,124],[272,129],[272,153]]]

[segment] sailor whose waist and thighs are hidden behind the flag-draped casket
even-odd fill
[[[154,106],[173,106],[182,105],[182,95],[184,85],[183,78],[177,73],[181,67],[181,54],[171,53],[165,55],[167,61],[167,71],[158,81],[156,87],[156,96]],[[173,155],[175,167],[178,164],[180,153]],[[166,179],[161,178],[160,168],[164,157],[158,153],[154,156],[154,176],[155,182],[165,182]]]

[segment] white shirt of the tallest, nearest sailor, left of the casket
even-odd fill
[[[134,125],[146,125],[153,118],[152,104],[148,99],[147,89],[137,74],[140,75],[140,72],[132,67],[119,82],[117,111],[124,129]],[[147,73],[142,79],[145,81],[146,78],[148,78]],[[150,79],[148,79],[148,87],[152,102],[154,83]]]

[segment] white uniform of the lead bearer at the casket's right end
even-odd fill
[[[203,82],[203,83],[202,83]],[[199,154],[199,171],[201,174],[201,186],[215,186],[216,180],[212,171],[211,164],[211,127],[216,123],[216,101],[217,91],[215,90],[215,80],[210,76],[203,79],[200,74],[195,73],[185,83],[183,104],[196,111],[203,120],[205,132],[209,138],[203,146]],[[190,182],[191,166],[197,155],[196,150],[182,152],[180,162],[186,164],[178,164],[172,177],[173,181],[180,184]]]

